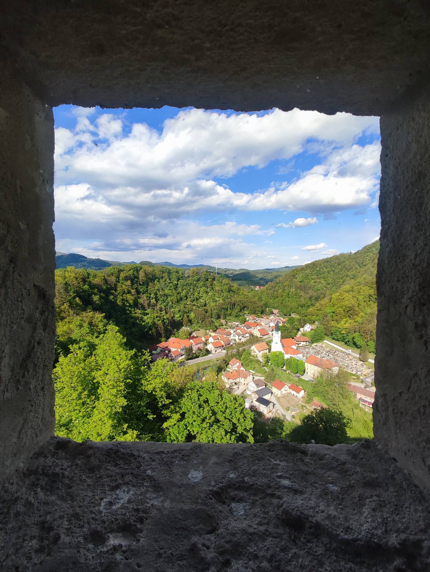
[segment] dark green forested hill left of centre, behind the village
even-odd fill
[[[57,269],[56,306],[57,331],[64,342],[78,315],[85,320],[98,312],[136,349],[169,337],[182,325],[210,328],[221,317],[264,311],[261,301],[213,272],[140,264],[101,271]]]

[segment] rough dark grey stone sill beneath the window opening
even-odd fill
[[[354,446],[53,438],[0,493],[3,572],[429,569],[423,494]]]

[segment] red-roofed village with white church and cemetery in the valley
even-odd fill
[[[286,420],[295,420],[300,413],[309,413],[312,410],[324,407],[318,400],[307,400],[305,385],[314,382],[321,373],[337,374],[340,368],[352,374],[352,380],[346,387],[366,411],[372,411],[375,388],[373,385],[374,371],[368,365],[354,357],[344,348],[326,341],[325,343],[311,343],[306,335],[318,323],[306,324],[300,328],[297,336],[282,338],[281,329],[288,320],[274,309],[270,316],[247,315],[244,323],[223,320],[223,327],[216,331],[192,332],[188,339],[171,337],[167,341],[149,347],[152,362],[166,358],[172,362],[192,363],[222,358],[226,350],[240,344],[250,350],[251,356],[260,364],[258,368],[248,368],[233,357],[228,362],[220,378],[226,390],[236,395],[242,395],[246,408],[253,408],[259,412],[263,419],[270,422],[275,415]],[[248,344],[246,342],[248,341]],[[289,359],[300,362],[292,368],[293,374],[285,365],[280,371],[285,372],[285,380],[275,379],[265,382],[269,372],[270,354],[281,352],[285,364]],[[234,352],[231,352],[234,353]],[[194,359],[193,359],[194,358]],[[186,360],[190,362],[186,362]],[[294,365],[294,362],[293,362]],[[258,371],[255,371],[257,370]],[[284,374],[283,374],[284,375]],[[288,379],[286,379],[288,378]],[[310,403],[308,403],[310,401]]]

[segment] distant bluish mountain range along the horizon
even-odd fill
[[[88,270],[102,270],[110,266],[126,266],[128,264],[138,264],[135,261],[119,262],[117,260],[102,260],[100,258],[88,258],[84,255],[77,253],[56,253],[56,267],[67,268],[73,266],[74,268],[86,268]],[[147,266],[169,266],[174,268],[182,268],[190,270],[191,268],[203,268],[212,272],[216,271],[215,266],[207,264],[173,264],[172,262],[151,262],[149,260],[141,260],[139,264]],[[236,284],[240,286],[251,285],[264,285],[275,278],[281,276],[284,272],[289,272],[297,268],[297,266],[283,266],[280,268],[262,268],[259,270],[248,270],[247,268],[218,268],[220,275],[227,276]]]

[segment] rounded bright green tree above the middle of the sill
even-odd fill
[[[192,382],[164,423],[173,443],[253,443],[253,413],[240,396],[220,391],[216,382]]]

